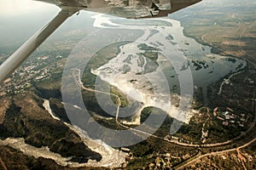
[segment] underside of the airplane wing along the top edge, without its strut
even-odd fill
[[[163,17],[201,0],[37,0],[128,19]]]

